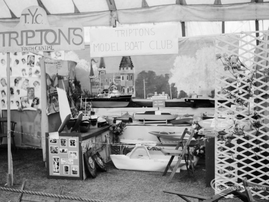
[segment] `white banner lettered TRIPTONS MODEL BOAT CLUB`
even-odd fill
[[[91,57],[178,53],[178,26],[90,29]]]

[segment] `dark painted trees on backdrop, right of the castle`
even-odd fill
[[[156,75],[154,71],[142,71],[140,72],[135,80],[136,86],[136,97],[144,98],[144,80],[145,80],[145,94],[146,97],[148,94],[153,95],[154,91],[157,91],[158,94],[165,92],[165,94],[170,94],[170,85],[168,83],[169,75]],[[173,98],[176,98],[177,89],[175,85],[171,85],[172,95],[175,95]]]

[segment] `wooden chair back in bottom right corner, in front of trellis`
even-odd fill
[[[261,185],[258,183],[254,183],[254,182],[250,182],[247,180],[247,178],[243,178],[242,179],[244,188],[245,188],[245,193],[247,196],[247,200],[248,202],[265,202],[265,201],[269,201],[269,200],[265,200],[265,199],[258,199],[258,198],[254,198],[252,196],[251,190],[253,189],[253,187],[259,189],[259,190],[263,190],[264,192],[267,192],[267,196],[269,194],[269,186],[268,185]]]

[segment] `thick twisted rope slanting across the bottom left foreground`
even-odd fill
[[[6,187],[0,187],[0,190],[8,191],[8,192],[17,192],[17,193],[24,193],[24,194],[31,194],[31,195],[37,195],[37,196],[48,196],[48,197],[54,197],[59,199],[69,199],[69,200],[77,200],[77,201],[89,201],[89,202],[109,202],[109,201],[103,201],[98,199],[86,199],[81,197],[73,197],[73,196],[64,196],[64,195],[58,195],[58,194],[48,194],[48,193],[42,193],[42,192],[32,192],[22,189],[12,189],[12,188],[6,188]]]

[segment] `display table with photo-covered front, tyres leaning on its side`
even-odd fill
[[[109,126],[90,129],[86,133],[59,133],[58,140],[49,139],[49,133],[46,133],[47,178],[86,179],[88,172],[83,154],[92,148],[108,162],[108,143],[111,141]]]

